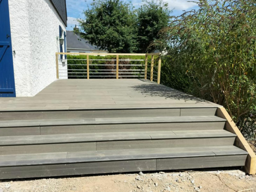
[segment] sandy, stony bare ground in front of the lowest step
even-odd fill
[[[0,192],[256,192],[240,170],[170,171],[1,181]]]

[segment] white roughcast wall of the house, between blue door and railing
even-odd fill
[[[50,0],[9,0],[9,10],[16,96],[34,96],[56,80],[56,37],[66,26]]]

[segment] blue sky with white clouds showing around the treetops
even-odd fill
[[[92,0],[66,0],[67,2],[67,30],[72,31],[77,18],[83,18],[83,11],[88,8]],[[129,1],[129,0],[125,0]],[[173,10],[173,15],[180,15],[183,10],[189,11],[196,9],[197,6],[193,2],[188,0],[164,0],[168,3],[169,8]],[[132,0],[132,4],[135,8],[140,7],[142,0]]]

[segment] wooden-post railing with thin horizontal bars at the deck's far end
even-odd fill
[[[62,55],[62,58],[60,58]],[[65,55],[86,55],[86,58],[72,59]],[[90,56],[102,56],[103,59],[94,59]],[[115,58],[104,59],[104,56],[115,56]],[[124,56],[143,56],[143,59],[121,58]],[[70,61],[80,61],[80,64],[70,64]],[[97,61],[105,61],[111,64],[95,64]],[[122,61],[128,61],[129,64],[123,64]],[[141,64],[131,64],[137,61]],[[84,63],[83,63],[84,62]],[[93,64],[94,62],[94,64]],[[150,65],[148,64],[150,62]],[[82,63],[82,64],[81,64]],[[155,64],[157,63],[157,64]],[[74,69],[74,66],[81,66],[80,69]],[[86,69],[85,69],[86,65]],[[95,66],[112,66],[113,69],[93,69]],[[72,67],[73,66],[73,67]],[[124,66],[137,67],[140,69],[124,69]],[[120,69],[121,68],[121,69]],[[148,69],[149,68],[149,69]],[[99,72],[100,71],[100,72]],[[103,72],[101,72],[103,71]],[[124,71],[124,72],[123,72]],[[149,71],[149,72],[148,72]],[[75,75],[74,75],[75,74]],[[102,75],[103,74],[103,75]],[[145,78],[160,84],[161,77],[161,58],[160,53],[56,53],[56,77],[58,78]]]

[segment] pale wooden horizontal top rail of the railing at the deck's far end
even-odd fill
[[[160,53],[56,53],[56,54],[72,54],[72,55],[121,55],[121,56],[145,56],[159,55]]]

